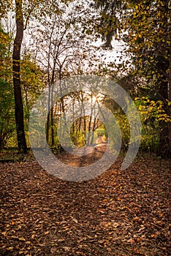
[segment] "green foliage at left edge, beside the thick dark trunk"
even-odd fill
[[[6,145],[15,131],[15,105],[9,43],[9,35],[0,28],[0,148]]]

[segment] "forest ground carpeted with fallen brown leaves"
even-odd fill
[[[0,163],[0,255],[171,255],[170,161],[139,155],[121,170],[122,160],[80,182],[34,159]]]

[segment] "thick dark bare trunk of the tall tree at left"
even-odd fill
[[[22,0],[15,0],[16,36],[12,55],[12,75],[15,94],[15,121],[18,137],[18,149],[26,153],[26,137],[23,122],[23,100],[20,86],[20,48],[23,42],[23,10]]]

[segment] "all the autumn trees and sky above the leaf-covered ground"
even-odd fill
[[[75,106],[85,116],[84,100],[89,97],[92,103],[96,96],[76,91],[54,104],[54,84],[60,89],[64,78],[94,74],[115,80],[135,98],[143,124],[142,148],[170,157],[170,1],[15,0],[12,5],[8,0],[1,3],[0,12],[1,148],[9,141],[15,143],[17,135],[19,151],[27,151],[29,114],[46,87],[46,138],[54,147],[59,117],[71,106],[73,120]],[[100,48],[92,43],[99,38]],[[124,57],[107,63],[102,54],[113,48],[114,39],[124,45]],[[118,116],[127,145],[129,123],[123,111],[107,95],[100,101]],[[80,146],[86,132],[102,127],[96,115],[91,117],[92,106],[89,117],[78,118],[72,125],[72,140],[80,140]],[[89,143],[93,140],[88,138]]]

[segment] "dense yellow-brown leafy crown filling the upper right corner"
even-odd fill
[[[170,59],[169,1],[129,1],[123,17],[123,39],[129,45],[137,72],[159,88],[166,79]],[[162,63],[162,65],[161,65]],[[159,82],[160,81],[160,82]]]

